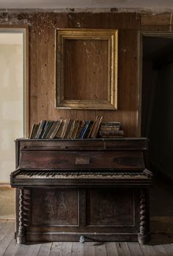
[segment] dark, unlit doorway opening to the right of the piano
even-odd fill
[[[141,135],[154,172],[152,216],[173,216],[173,35],[142,36]]]

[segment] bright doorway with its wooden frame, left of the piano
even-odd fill
[[[27,136],[27,29],[0,28],[0,183],[15,169],[15,138]]]

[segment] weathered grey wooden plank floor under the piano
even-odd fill
[[[152,234],[149,245],[138,243],[79,243],[54,242],[18,245],[14,239],[15,222],[0,220],[0,256],[172,256],[173,236]]]

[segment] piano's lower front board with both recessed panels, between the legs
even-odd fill
[[[138,189],[39,188],[30,196],[27,232],[138,232]]]

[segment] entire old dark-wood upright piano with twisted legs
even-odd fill
[[[17,139],[18,243],[149,238],[146,138]]]

